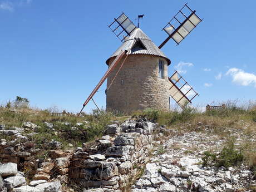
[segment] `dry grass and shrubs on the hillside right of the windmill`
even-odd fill
[[[190,106],[183,111],[137,111],[133,117],[144,117],[180,133],[209,131],[225,140],[221,149],[206,151],[202,157],[204,166],[239,166],[243,163],[254,170],[256,176],[256,104],[227,102],[225,109],[199,112]],[[237,135],[236,133],[239,132]],[[243,139],[239,136],[245,136]],[[239,143],[238,143],[238,140]]]

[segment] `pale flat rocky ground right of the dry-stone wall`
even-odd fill
[[[242,130],[228,131],[231,132],[230,135],[238,136],[240,143],[236,145],[248,139]],[[156,137],[160,140],[155,141],[159,147],[146,164],[144,175],[132,185],[132,192],[232,192],[255,189],[256,178],[252,170],[244,164],[229,168],[202,165],[204,152],[218,151],[224,143],[219,135],[211,134],[210,130],[181,135],[178,131],[173,131],[172,136],[164,142],[161,132]]]

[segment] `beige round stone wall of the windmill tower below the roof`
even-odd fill
[[[112,58],[109,63],[113,60]],[[159,60],[165,62],[164,78],[159,77]],[[119,69],[118,66],[107,78],[107,87]],[[106,109],[127,114],[146,108],[169,110],[169,88],[168,65],[165,58],[129,55],[107,90]]]

